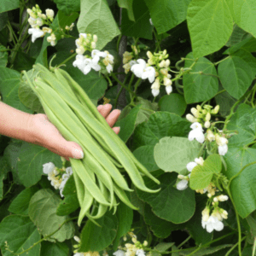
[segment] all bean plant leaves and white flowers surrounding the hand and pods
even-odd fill
[[[255,24],[253,0],[1,1],[1,101],[44,113],[24,71],[64,69],[122,110],[118,136],[160,191],[120,169],[134,209],[79,225],[70,162],[1,136],[0,254],[255,255]]]

